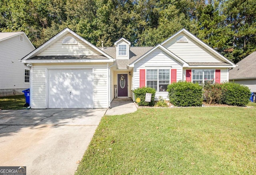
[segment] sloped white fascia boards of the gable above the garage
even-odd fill
[[[31,53],[29,53],[28,55],[26,55],[24,58],[22,58],[22,60],[24,59],[29,59],[31,57],[34,57],[36,55],[38,55],[38,53],[40,53],[44,48],[48,48],[50,47],[50,45],[52,45],[52,43],[54,43],[55,40],[63,37],[64,35],[66,35],[67,33],[71,33],[72,35],[78,37],[80,40],[82,40],[84,43],[90,45],[91,47],[93,47],[94,49],[96,49],[96,51],[102,53],[102,55],[106,56],[107,58],[112,58],[110,57],[110,55],[106,54],[104,51],[100,50],[98,47],[96,47],[95,45],[93,45],[92,43],[90,43],[89,41],[87,41],[86,39],[84,39],[83,37],[80,37],[78,34],[76,34],[74,31],[70,30],[69,28],[66,28],[62,31],[60,31],[60,33],[58,33],[57,35],[55,35],[54,37],[52,37],[51,39],[49,39],[48,41],[46,41],[44,44],[42,44],[40,47],[38,47],[36,50],[32,51]]]

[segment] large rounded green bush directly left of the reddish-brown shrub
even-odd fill
[[[169,100],[174,106],[201,106],[202,86],[179,81],[168,85]]]

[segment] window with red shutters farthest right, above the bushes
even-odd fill
[[[204,82],[210,81],[214,83],[214,69],[193,69],[192,70],[192,82],[198,84],[204,84]]]

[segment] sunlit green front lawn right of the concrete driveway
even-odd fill
[[[104,116],[76,175],[255,172],[255,107],[198,107]]]

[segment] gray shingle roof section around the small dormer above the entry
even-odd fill
[[[117,59],[116,64],[118,66],[118,69],[127,69],[127,65],[147,53],[150,49],[153,47],[130,47],[130,59],[124,60],[124,59]],[[101,49],[101,47],[100,47]],[[104,52],[106,52],[108,55],[110,55],[112,58],[116,59],[116,48],[115,47],[104,47]]]

